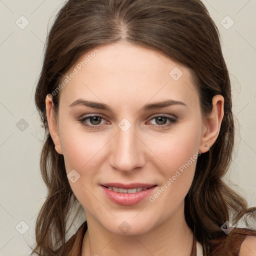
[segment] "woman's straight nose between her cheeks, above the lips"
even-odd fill
[[[145,145],[136,134],[134,125],[126,131],[117,126],[116,135],[111,139],[109,163],[115,170],[130,173],[145,164]]]

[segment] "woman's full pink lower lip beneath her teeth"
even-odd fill
[[[136,193],[119,193],[119,192],[115,192],[114,190],[108,189],[107,187],[104,187],[102,185],[101,187],[106,193],[106,196],[111,201],[121,205],[133,205],[133,204],[139,203],[142,200],[144,200],[146,197],[148,197],[156,188],[156,186],[152,186],[146,190],[141,190],[140,192],[136,192]]]

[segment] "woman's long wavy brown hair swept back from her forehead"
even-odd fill
[[[195,229],[204,252],[211,255],[219,245],[218,239],[226,235],[220,226],[226,220],[234,225],[256,208],[247,208],[245,199],[222,180],[234,143],[230,80],[219,31],[200,0],[69,0],[61,7],[47,37],[35,92],[46,131],[40,168],[48,194],[36,219],[34,252],[61,255],[70,209],[79,204],[67,179],[63,155],[55,151],[48,131],[45,97],[81,55],[118,40],[156,50],[190,67],[196,75],[204,117],[211,112],[212,97],[224,97],[219,135],[211,148],[198,157],[185,196],[187,224]],[[59,93],[53,95],[55,113],[58,97]]]

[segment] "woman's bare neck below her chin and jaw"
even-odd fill
[[[157,227],[139,235],[116,235],[86,214],[87,231],[81,256],[139,255],[190,256],[193,232],[184,217],[184,202],[174,214]]]

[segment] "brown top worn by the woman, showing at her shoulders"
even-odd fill
[[[75,234],[73,234],[64,245],[64,255],[66,256],[81,256],[82,240],[87,230],[86,220],[80,225]],[[247,228],[234,227],[233,230],[227,235],[219,238],[218,246],[220,249],[212,251],[212,255],[228,255],[238,256],[241,243],[245,239],[246,235],[255,235],[255,231],[251,231]],[[221,251],[220,251],[221,250]],[[222,254],[223,253],[223,254]],[[231,253],[231,254],[230,254]],[[196,256],[196,239],[193,238],[193,246],[190,256]]]

